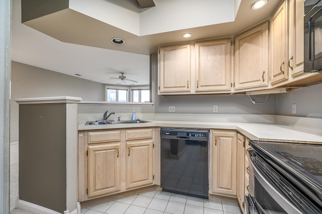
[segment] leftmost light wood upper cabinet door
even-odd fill
[[[158,57],[158,92],[190,92],[190,44],[159,47]]]

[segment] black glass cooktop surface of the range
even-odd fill
[[[251,140],[250,146],[279,171],[322,200],[322,144]]]

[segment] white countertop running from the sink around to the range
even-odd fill
[[[172,128],[196,128],[196,129],[228,129],[236,130],[252,140],[294,141],[322,143],[322,131],[304,129],[289,125],[275,123],[251,123],[251,122],[204,122],[204,121],[168,121],[149,120],[139,124],[109,124],[90,125],[79,124],[78,130],[101,130],[114,128],[139,128],[139,127],[172,127]]]

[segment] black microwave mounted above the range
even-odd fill
[[[304,72],[322,73],[322,0],[304,2]]]

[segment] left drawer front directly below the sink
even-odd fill
[[[102,143],[102,142],[115,142],[121,141],[121,131],[102,131],[102,132],[89,132],[89,144],[90,143]]]

